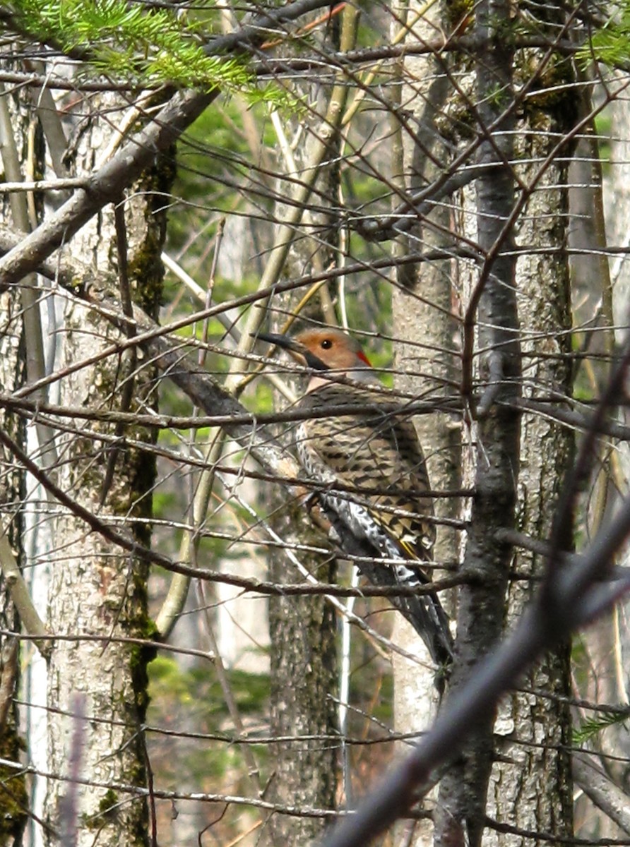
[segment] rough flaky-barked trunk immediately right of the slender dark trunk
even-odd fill
[[[560,107],[560,104],[559,104]],[[549,153],[555,138],[566,133],[571,108],[530,113],[538,129],[523,132],[517,141],[519,158],[532,163],[519,168],[526,184]],[[523,355],[523,396],[544,398],[550,391],[571,395],[571,311],[566,253],[566,162],[558,161],[544,174],[538,191],[524,209],[518,240],[534,252],[519,259],[516,284]],[[570,467],[571,430],[542,415],[521,418],[521,468],[516,507],[517,529],[533,538],[548,538],[563,479]],[[566,549],[572,528],[566,527]],[[544,561],[517,551],[513,567],[535,578]],[[527,605],[535,583],[511,582],[507,593],[506,626],[516,622]],[[496,732],[505,737],[493,764],[488,791],[488,815],[523,830],[540,830],[555,837],[572,834],[571,695],[569,647],[546,654],[512,692],[499,711]],[[523,844],[522,836],[487,833],[486,844],[502,847]]]

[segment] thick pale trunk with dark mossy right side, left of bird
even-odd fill
[[[104,97],[95,109],[76,149],[75,173],[89,173],[114,138],[112,115],[124,104]],[[111,111],[113,110],[113,111]],[[155,313],[161,286],[159,250],[164,218],[153,208],[152,190],[166,189],[170,164],[145,174],[132,199],[124,204],[131,296]],[[122,198],[121,198],[122,201]],[[156,204],[157,205],[157,204]],[[114,212],[103,209],[75,236],[69,250],[95,276],[118,264]],[[58,328],[59,368],[98,356],[120,338],[98,313],[67,302]],[[60,403],[68,406],[120,407],[129,411],[153,403],[153,372],[142,369],[134,355],[110,356],[75,370],[61,381]],[[132,380],[132,390],[128,391]],[[106,523],[122,523],[123,531],[147,544],[151,515],[153,457],[125,444],[125,435],[150,440],[144,431],[115,431],[94,425],[59,438],[58,483],[81,506]],[[46,817],[53,828],[78,828],[77,844],[146,844],[148,812],[144,800],[130,800],[109,783],[144,786],[145,750],[142,722],[147,705],[146,665],[150,656],[125,637],[150,637],[147,614],[147,565],[123,555],[90,532],[69,512],[59,513],[51,553],[48,625],[59,635],[48,668],[49,770],[59,780],[48,784]],[[81,717],[72,717],[76,711]],[[77,746],[72,735],[80,738]],[[89,789],[66,783],[70,761],[78,772],[100,786]],[[73,819],[70,796],[77,800]],[[65,801],[64,801],[65,796]],[[98,834],[97,834],[98,833]]]

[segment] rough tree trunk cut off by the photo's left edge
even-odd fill
[[[10,51],[7,67],[14,66]],[[31,101],[24,91],[7,90],[0,84],[0,152],[5,179],[21,182],[42,168],[41,137],[31,123]],[[40,211],[32,194],[17,192],[3,194],[0,222],[8,228],[28,232],[37,223]],[[33,294],[36,278],[33,274],[20,287],[0,295],[0,386],[3,391],[19,390],[27,379],[36,379],[42,360],[37,357],[41,344],[27,351],[25,337],[28,329],[38,325],[39,305]],[[40,334],[41,335],[41,334]],[[41,338],[40,338],[41,341]],[[27,373],[28,370],[28,373]],[[27,449],[28,433],[25,421],[10,409],[0,412],[0,429],[20,446]],[[31,424],[31,442],[37,446],[36,428]],[[40,432],[43,440],[43,429]],[[43,447],[42,449],[46,449]],[[32,480],[29,480],[32,484]],[[23,831],[28,823],[27,810],[37,805],[36,787],[29,785],[20,773],[20,762],[31,758],[34,748],[30,734],[32,713],[28,707],[20,714],[16,700],[31,700],[25,678],[39,678],[45,673],[44,660],[35,643],[20,647],[20,634],[31,632],[34,607],[30,601],[17,599],[20,590],[28,595],[31,572],[25,568],[25,470],[14,460],[8,447],[0,447],[0,758],[14,765],[0,767],[0,844],[22,844]],[[39,492],[41,494],[41,492]],[[22,582],[24,580],[24,582]],[[20,620],[20,604],[24,629]],[[37,622],[41,624],[41,622]],[[42,634],[43,628],[38,628]],[[31,633],[34,634],[34,633]],[[39,642],[39,650],[47,645]],[[34,699],[37,699],[35,692]],[[41,704],[40,704],[41,705]],[[40,717],[42,711],[39,711]],[[22,734],[23,733],[23,734]],[[25,754],[25,751],[28,751]],[[32,758],[31,758],[31,761]],[[35,782],[35,780],[33,780]],[[31,797],[29,798],[29,793]],[[30,802],[31,801],[31,802]]]

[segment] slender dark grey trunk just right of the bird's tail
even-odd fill
[[[478,3],[473,31],[476,52],[477,131],[484,141],[477,154],[477,246],[482,256],[466,302],[462,390],[475,421],[475,495],[466,538],[457,614],[457,650],[450,686],[454,695],[474,673],[482,656],[499,640],[505,614],[510,547],[496,529],[510,527],[519,472],[519,394],[521,361],[516,313],[514,235],[508,228],[515,200],[513,159],[515,121],[509,42],[499,35],[510,19],[506,3]],[[488,128],[493,127],[492,141]],[[473,380],[472,350],[483,351]],[[472,386],[477,396],[472,396]],[[437,810],[437,842],[478,847],[486,815],[486,791],[493,760],[493,716],[486,716],[463,756],[443,778]]]

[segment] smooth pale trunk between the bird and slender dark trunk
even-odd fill
[[[422,10],[420,4],[404,4],[395,9],[393,37],[405,25],[409,31],[407,44],[429,42],[446,14],[442,4]],[[419,17],[421,15],[421,17]],[[449,75],[443,63],[427,56],[407,57],[399,63],[402,113],[413,120],[414,132],[400,125],[400,111],[393,114],[394,137],[393,175],[401,191],[420,191],[438,175],[440,167],[448,169],[450,154],[438,124],[446,119],[450,92]],[[409,117],[407,118],[409,120]],[[394,197],[398,205],[400,197]],[[452,226],[451,212],[445,203],[415,225],[409,235],[394,242],[394,252],[428,252],[448,241]],[[451,317],[453,291],[451,263],[448,259],[419,263],[399,268],[397,285],[393,287],[392,311],[395,327],[395,385],[405,394],[422,401],[437,401],[451,393],[459,374],[458,353],[454,349],[456,323]],[[444,412],[419,415],[415,427],[425,451],[427,469],[433,490],[453,490],[460,485],[460,426]],[[454,498],[434,501],[439,518],[457,518],[460,504]],[[438,537],[433,547],[435,562],[453,564],[459,551],[458,534],[454,529],[438,524]],[[439,579],[444,571],[428,571]],[[452,598],[441,600],[451,615]],[[416,656],[410,658],[393,654],[394,724],[399,733],[413,733],[428,728],[438,707],[436,671],[426,646],[404,618],[394,618],[393,641]],[[441,669],[443,673],[443,669]],[[404,755],[405,748],[402,748]],[[431,806],[429,802],[427,806]],[[432,824],[419,821],[413,824],[413,843],[432,844]]]

